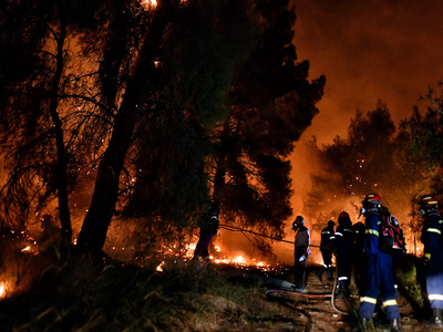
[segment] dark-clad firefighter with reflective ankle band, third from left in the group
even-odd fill
[[[349,298],[349,284],[352,271],[352,221],[348,212],[339,215],[339,226],[336,230],[336,258],[337,258],[337,281],[341,293]]]

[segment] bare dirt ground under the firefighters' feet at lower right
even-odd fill
[[[307,286],[306,289],[309,293],[328,293],[333,288],[333,282],[326,280],[323,274],[322,282],[317,280],[315,271],[318,268],[308,268],[307,273]],[[286,281],[292,282],[293,277],[288,273],[285,279]],[[277,287],[276,287],[277,288]],[[271,289],[271,287],[269,288]],[[336,299],[332,305],[331,297],[329,298],[303,298],[297,297],[293,299],[281,299],[276,295],[269,297],[271,301],[280,301],[282,305],[293,309],[299,315],[298,320],[301,324],[297,328],[290,326],[286,322],[278,322],[274,328],[279,331],[360,331],[358,323],[357,311],[359,308],[359,299],[353,295],[350,301],[344,299]],[[443,329],[431,329],[423,325],[415,317],[410,303],[402,297],[398,299],[399,311],[401,314],[400,322],[402,331],[415,331],[415,332],[432,332],[443,331]],[[390,331],[383,324],[383,313],[380,308],[375,310],[374,321],[377,329],[374,331]]]

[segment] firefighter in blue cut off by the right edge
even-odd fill
[[[423,261],[426,266],[426,291],[432,308],[432,318],[426,325],[443,328],[443,248],[441,236],[442,217],[436,212],[437,200],[426,195],[419,201],[420,215],[424,217],[421,241],[424,245]]]

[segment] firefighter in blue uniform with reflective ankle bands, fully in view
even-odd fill
[[[391,331],[400,331],[400,312],[395,298],[392,257],[379,250],[379,225],[381,224],[379,210],[382,201],[379,195],[369,194],[364,197],[362,205],[361,214],[365,217],[365,266],[361,282],[360,322],[363,330],[369,330],[369,322],[380,295]]]

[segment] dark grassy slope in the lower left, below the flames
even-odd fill
[[[244,331],[291,317],[267,301],[260,279],[245,278],[247,271],[179,258],[164,258],[158,271],[82,257],[2,299],[0,320],[4,331]]]

